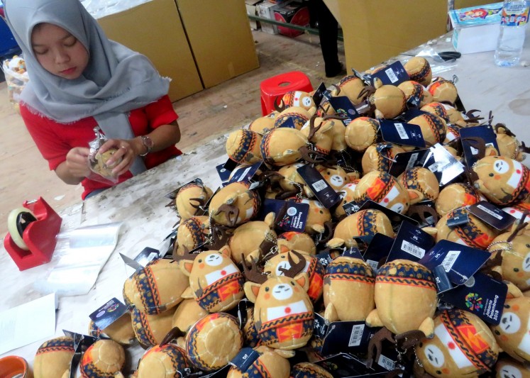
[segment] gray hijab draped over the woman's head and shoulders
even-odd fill
[[[93,116],[107,138],[131,139],[128,111],[167,94],[170,79],[160,77],[144,55],[107,39],[79,0],[4,0],[4,11],[30,77],[21,100],[33,111],[60,123]],[[38,23],[60,26],[84,45],[90,57],[81,77],[63,79],[38,63],[31,47]],[[131,172],[143,170],[137,158]]]

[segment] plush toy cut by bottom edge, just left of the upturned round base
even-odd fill
[[[138,363],[138,378],[184,377],[191,368],[186,352],[171,343],[150,348]]]

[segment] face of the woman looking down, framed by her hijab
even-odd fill
[[[87,49],[60,26],[51,23],[35,26],[31,46],[40,65],[58,77],[77,79],[88,65]]]

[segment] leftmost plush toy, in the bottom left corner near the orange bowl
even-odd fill
[[[57,378],[70,372],[74,357],[74,339],[62,336],[45,341],[35,353],[33,375],[35,378]]]

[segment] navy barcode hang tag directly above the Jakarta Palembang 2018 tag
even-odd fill
[[[442,265],[453,284],[464,284],[490,258],[491,253],[467,245],[440,240],[419,263],[434,270]]]

